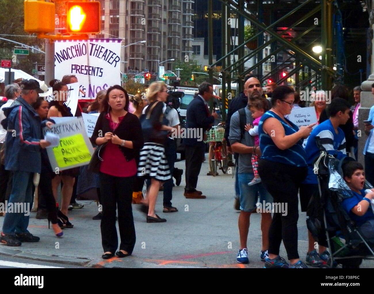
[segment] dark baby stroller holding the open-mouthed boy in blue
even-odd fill
[[[331,259],[343,268],[359,268],[362,259],[374,259],[374,239],[366,239],[359,227],[341,206],[341,202],[353,196],[352,191],[343,179],[341,166],[351,157],[336,159],[327,153],[316,138],[321,151],[314,161],[314,172],[317,174],[319,195],[312,197],[307,208],[307,228],[319,245],[328,247]],[[373,186],[365,181],[364,189]],[[371,207],[369,207],[371,209]]]

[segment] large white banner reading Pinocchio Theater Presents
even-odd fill
[[[79,99],[94,99],[96,93],[121,82],[121,39],[62,40],[55,42],[55,76],[75,75]]]

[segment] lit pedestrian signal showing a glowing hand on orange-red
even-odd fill
[[[68,1],[67,32],[70,34],[98,34],[101,31],[99,1]]]

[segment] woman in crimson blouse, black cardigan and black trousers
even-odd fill
[[[103,259],[114,256],[118,247],[116,207],[121,243],[118,257],[132,254],[135,226],[132,216],[132,186],[137,174],[135,156],[143,146],[141,125],[137,116],[128,112],[129,96],[119,85],[108,88],[103,111],[91,137],[101,147],[99,179],[102,204],[101,240]]]

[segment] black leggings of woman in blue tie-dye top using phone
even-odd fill
[[[297,167],[284,163],[260,159],[258,173],[274,203],[284,203],[282,212],[273,214],[269,229],[269,253],[279,255],[283,240],[288,259],[297,259],[297,220],[299,218],[298,190],[307,175],[307,167]],[[277,207],[277,206],[275,206]],[[283,207],[283,206],[282,206]]]

